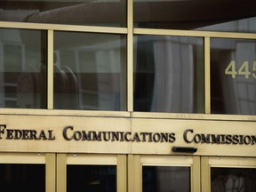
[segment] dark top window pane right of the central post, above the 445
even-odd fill
[[[255,5],[251,0],[134,0],[134,27],[255,32]]]

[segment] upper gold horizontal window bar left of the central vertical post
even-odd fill
[[[60,25],[46,23],[24,23],[24,22],[7,22],[0,21],[0,28],[21,28],[21,29],[40,29],[40,30],[58,30],[74,32],[93,32],[93,33],[111,33],[127,34],[127,28],[98,27],[98,26],[76,26]]]

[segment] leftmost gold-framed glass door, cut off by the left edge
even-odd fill
[[[55,155],[0,153],[1,191],[54,192]]]

